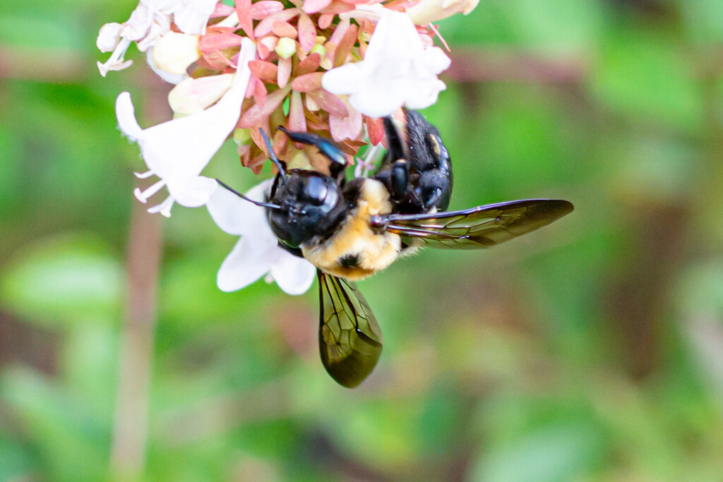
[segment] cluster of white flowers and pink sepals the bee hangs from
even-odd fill
[[[135,42],[150,67],[176,84],[168,95],[174,119],[147,129],[128,92],[116,100],[121,131],[138,142],[147,164],[137,176],[158,177],[134,194],[145,203],[165,186],[168,197],[149,212],[169,216],[176,202],[207,205],[224,231],[242,236],[218,274],[221,289],[268,272],[284,291],[306,291],[311,265],[276,246],[268,225],[260,227],[260,208],[201,172],[233,137],[241,165],[259,173],[269,158],[262,130],[290,168],[327,171],[325,158],[288,139],[283,126],[334,139],[350,164],[369,146],[356,170],[366,173],[383,141],[381,118],[402,106],[430,106],[445,88],[437,75],[450,59],[433,46],[432,22],[469,13],[476,1],[140,0],[126,22],[103,25],[97,41],[112,52],[98,62],[104,76],[131,64],[124,56]],[[249,196],[260,199],[262,188],[254,189]]]

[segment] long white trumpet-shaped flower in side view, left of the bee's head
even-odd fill
[[[121,131],[138,142],[146,173],[140,178],[158,176],[160,181],[145,191],[135,189],[141,202],[163,186],[170,196],[148,212],[171,215],[174,202],[187,207],[204,205],[216,187],[216,181],[200,176],[215,152],[234,130],[241,113],[241,103],[249,83],[249,61],[256,56],[256,44],[247,38],[241,43],[239,68],[231,88],[215,105],[205,111],[166,121],[157,126],[141,129],[135,119],[130,94],[122,92],[116,100],[116,116]]]

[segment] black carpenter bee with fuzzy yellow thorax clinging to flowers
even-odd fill
[[[262,132],[279,173],[268,202],[248,200],[266,208],[279,246],[317,267],[321,360],[344,387],[360,384],[382,353],[379,324],[354,281],[422,246],[487,248],[573,210],[567,201],[526,199],[445,212],[453,184],[449,153],[422,114],[403,113],[401,129],[384,119],[388,152],[377,173],[351,181],[344,176],[346,156],[330,139],[281,127],[289,139],[314,145],[330,161],[329,175],[286,171]]]

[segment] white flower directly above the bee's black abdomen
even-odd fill
[[[437,101],[445,83],[437,78],[450,65],[438,47],[424,48],[406,14],[384,12],[364,60],[331,69],[322,86],[371,117],[388,116],[398,108],[419,109]]]

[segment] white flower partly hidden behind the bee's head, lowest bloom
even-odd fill
[[[271,179],[247,192],[247,197],[263,201]],[[216,282],[223,291],[236,291],[260,277],[270,275],[283,291],[300,295],[311,287],[316,268],[306,259],[278,246],[263,207],[252,204],[219,187],[206,205],[218,226],[229,234],[241,236],[231,254],[223,260]]]

